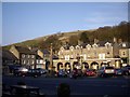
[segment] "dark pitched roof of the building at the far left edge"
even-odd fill
[[[17,58],[8,50],[2,50],[2,59],[16,60]]]

